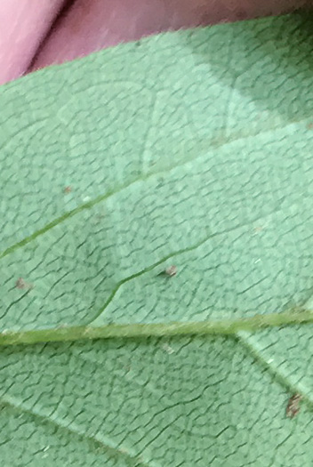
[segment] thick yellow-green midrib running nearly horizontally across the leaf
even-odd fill
[[[249,318],[221,319],[151,324],[108,324],[104,326],[68,326],[28,331],[0,333],[0,345],[32,344],[36,342],[65,342],[81,339],[111,339],[152,336],[180,336],[205,334],[236,334],[256,332],[267,327],[283,327],[313,323],[313,310],[290,310]]]

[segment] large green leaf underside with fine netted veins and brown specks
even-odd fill
[[[310,465],[313,326],[242,326],[311,320],[310,30],[165,34],[0,89],[1,342],[128,335],[2,347],[4,465]]]

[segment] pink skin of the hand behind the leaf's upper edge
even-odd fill
[[[290,12],[313,0],[1,0],[0,84],[161,31]]]

